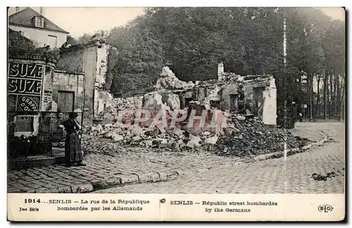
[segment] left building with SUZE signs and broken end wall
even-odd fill
[[[11,153],[51,151],[51,143],[62,139],[56,135],[58,126],[71,112],[82,125],[113,120],[113,96],[103,89],[111,51],[115,49],[95,40],[61,49],[59,59],[32,53],[8,58]]]

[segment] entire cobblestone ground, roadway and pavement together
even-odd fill
[[[86,167],[51,165],[8,172],[8,192],[52,192],[59,187],[71,188],[113,178],[128,179],[146,173],[179,172],[170,182],[133,184],[96,192],[119,193],[230,193],[230,192],[343,192],[344,191],[344,124],[298,123],[294,134],[319,140],[319,131],[334,141],[321,148],[259,163],[241,163],[239,158],[215,156],[210,152],[163,151],[128,148],[125,152],[89,153]],[[113,148],[113,143],[105,148]],[[339,172],[338,172],[339,171]],[[313,173],[337,172],[327,181],[315,181]],[[286,184],[285,184],[286,182]],[[68,191],[70,192],[70,191]]]

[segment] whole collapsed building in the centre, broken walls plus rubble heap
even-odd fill
[[[276,124],[276,87],[271,75],[242,77],[222,69],[221,64],[218,80],[183,82],[165,67],[155,91],[113,99],[118,112],[123,113],[121,119],[86,126],[84,133],[111,139],[120,146],[174,151],[201,146],[219,148],[222,156],[253,156],[260,153],[258,148],[277,151],[284,146],[277,144],[283,136],[290,146],[299,144],[285,129],[271,127]],[[136,121],[146,116],[138,110],[149,111],[149,119]],[[185,118],[175,121],[175,114]]]

